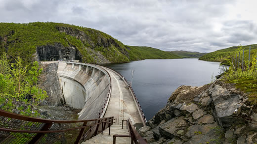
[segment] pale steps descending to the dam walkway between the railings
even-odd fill
[[[111,126],[111,133],[109,134],[109,128],[103,131],[103,134],[99,133],[95,137],[83,142],[81,144],[113,144],[113,135],[129,135],[129,130],[126,129],[126,125],[113,124]],[[131,144],[131,138],[127,137],[117,137],[116,144]]]

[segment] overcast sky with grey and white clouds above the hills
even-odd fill
[[[213,52],[257,44],[257,0],[0,0],[0,22],[58,22],[126,45]]]

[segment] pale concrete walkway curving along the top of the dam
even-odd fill
[[[109,72],[112,82],[111,97],[104,117],[114,116],[116,118],[114,124],[122,124],[122,120],[127,120],[128,118],[133,124],[142,124],[143,122],[132,94],[126,88],[127,84],[115,71],[102,66],[101,68]]]

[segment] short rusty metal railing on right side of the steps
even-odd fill
[[[132,125],[130,119],[124,120],[127,121],[127,125],[129,126],[129,135],[113,135],[113,144],[116,144],[117,137],[130,137],[131,144],[147,144],[147,141],[143,139],[140,134],[136,131],[135,127]],[[127,127],[128,129],[128,127]]]

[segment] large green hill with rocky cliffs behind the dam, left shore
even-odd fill
[[[129,62],[147,58],[181,58],[150,47],[126,46],[99,30],[62,23],[0,23],[0,55],[32,60]]]

